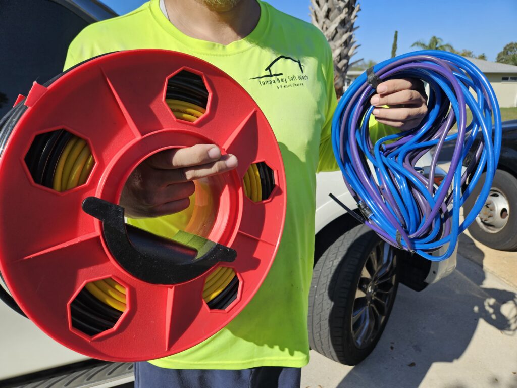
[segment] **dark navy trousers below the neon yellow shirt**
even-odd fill
[[[300,388],[301,368],[166,369],[134,364],[135,388]]]

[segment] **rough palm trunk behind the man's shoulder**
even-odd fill
[[[359,12],[356,0],[311,0],[311,21],[320,28],[332,49],[334,61],[334,87],[340,97],[345,86],[346,72],[355,62],[350,58],[356,53],[359,44],[354,36],[358,26],[354,23]]]

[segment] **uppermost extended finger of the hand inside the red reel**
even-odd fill
[[[178,169],[214,162],[221,151],[214,144],[196,144],[187,148],[170,148],[150,156],[146,162],[155,169]]]

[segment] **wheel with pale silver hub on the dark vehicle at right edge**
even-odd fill
[[[463,205],[468,214],[481,192],[486,173],[483,173]],[[517,250],[517,178],[509,172],[496,170],[489,198],[481,213],[468,227],[469,233],[480,243],[499,250]],[[487,216],[489,218],[487,218]],[[481,218],[483,217],[483,218]],[[505,218],[507,218],[505,220]],[[484,222],[483,220],[487,221]],[[504,224],[504,225],[503,225]]]

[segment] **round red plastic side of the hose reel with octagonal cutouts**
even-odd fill
[[[143,120],[142,117],[136,117],[134,114],[125,115],[124,112],[119,114],[121,112],[120,107],[122,106],[134,108],[132,105],[134,101],[129,97],[127,90],[122,90],[125,89],[124,85],[120,87],[121,83],[124,83],[125,80],[117,78],[121,75],[114,73],[117,63],[120,67],[123,67],[125,71],[130,72],[135,71],[135,68],[139,66],[143,66],[146,61],[151,61],[156,64],[156,68],[168,66],[168,69],[163,73],[160,85],[157,86],[156,93],[153,94],[154,97],[149,97],[149,103],[146,105],[160,112],[160,114],[153,116],[155,123],[160,123],[159,127],[153,127],[152,125],[139,126],[138,121]],[[197,69],[197,71],[203,74],[207,88],[211,88],[212,94],[208,98],[209,104],[217,105],[217,112],[215,108],[211,109],[209,106],[206,114],[199,118],[199,120],[196,120],[195,123],[177,120],[164,101],[163,90],[166,79],[185,68]],[[224,266],[229,266],[235,271],[240,283],[237,300],[230,302],[231,304],[229,306],[226,306],[227,300],[225,300],[225,309],[212,311],[202,299],[203,278],[214,271],[218,265],[212,270],[207,271],[205,275],[182,283],[180,286],[172,288],[151,286],[136,282],[135,279],[119,271],[110,261],[105,262],[101,256],[97,256],[100,255],[100,251],[104,252],[98,223],[96,224],[95,220],[86,214],[77,213],[77,217],[81,222],[85,221],[84,217],[88,217],[89,219],[86,218],[88,219],[86,222],[89,226],[84,223],[84,226],[81,228],[74,229],[73,231],[64,230],[57,234],[58,237],[56,237],[56,234],[52,234],[54,237],[49,238],[51,229],[54,228],[55,225],[52,222],[45,222],[49,219],[49,217],[44,217],[46,215],[45,212],[49,212],[49,210],[52,209],[54,216],[51,218],[61,219],[64,213],[60,210],[62,206],[57,206],[58,201],[80,203],[87,195],[98,196],[98,193],[104,194],[105,191],[101,190],[100,187],[99,190],[97,190],[97,187],[94,187],[93,183],[108,179],[108,175],[104,174],[104,172],[107,171],[105,167],[116,159],[113,155],[116,155],[118,152],[123,152],[124,147],[130,143],[127,139],[125,140],[121,137],[122,135],[119,135],[117,139],[121,146],[115,146],[115,143],[106,141],[103,144],[106,144],[107,148],[99,151],[99,143],[97,141],[103,136],[102,133],[96,133],[95,136],[99,137],[96,139],[95,136],[85,136],[83,130],[76,129],[77,127],[74,125],[65,125],[64,123],[49,125],[48,122],[45,122],[43,117],[41,117],[40,120],[40,127],[32,125],[34,124],[34,112],[48,107],[51,96],[56,98],[57,95],[60,95],[59,93],[63,93],[66,84],[73,82],[74,78],[79,77],[79,74],[82,76],[81,82],[92,86],[86,82],[88,81],[88,71],[90,75],[95,72],[96,77],[103,77],[104,80],[102,82],[104,87],[108,87],[109,89],[113,87],[113,90],[119,93],[117,95],[113,91],[109,92],[111,93],[110,96],[112,96],[110,97],[111,102],[106,102],[110,104],[116,103],[119,107],[116,111],[118,112],[116,113],[116,118],[118,117],[117,120],[124,124],[125,132],[122,132],[122,135],[126,136],[134,133],[135,130],[145,132],[141,133],[141,139],[151,137],[151,134],[157,130],[161,130],[162,132],[176,131],[177,133],[190,133],[192,136],[199,136],[199,133],[205,130],[208,131],[206,133],[212,133],[213,135],[213,133],[215,133],[213,131],[216,127],[220,127],[217,132],[217,136],[219,136],[218,139],[215,139],[215,135],[207,138],[211,139],[212,143],[220,145],[224,151],[236,154],[239,161],[244,163],[242,166],[239,165],[235,171],[235,174],[237,174],[239,178],[237,183],[239,187],[235,189],[235,192],[242,206],[242,212],[237,212],[238,214],[234,217],[235,223],[239,225],[234,240],[238,258],[234,263],[224,264]],[[152,76],[153,74],[147,75]],[[220,97],[223,94],[230,97],[223,99]],[[28,97],[36,100],[35,96],[30,93]],[[60,101],[66,103],[66,99],[64,98],[60,99]],[[47,91],[30,105],[28,108],[24,105],[20,105],[20,109],[24,109],[26,112],[16,123],[16,128],[14,128],[15,133],[18,134],[20,139],[25,136],[29,140],[23,142],[20,139],[17,140],[17,137],[9,138],[9,142],[0,158],[0,182],[19,181],[26,190],[27,195],[35,196],[33,201],[29,202],[27,206],[26,203],[21,201],[21,198],[6,198],[5,193],[3,195],[0,194],[0,212],[5,216],[4,219],[12,220],[10,223],[13,228],[12,231],[4,230],[0,233],[0,267],[5,275],[8,287],[13,291],[15,299],[22,309],[27,312],[29,318],[35,321],[40,329],[73,350],[109,361],[144,361],[177,353],[215,334],[233,319],[249,302],[269,270],[272,258],[274,258],[278,249],[285,219],[286,205],[286,183],[278,143],[274,138],[271,128],[267,124],[265,116],[244,89],[234,80],[227,77],[221,70],[198,58],[165,50],[135,50],[108,54],[88,61],[83,67],[78,67],[75,71],[69,71],[58,78],[54,83],[51,83],[47,87]],[[66,113],[65,106],[62,105],[61,108]],[[82,108],[83,112],[80,112],[81,114],[95,111],[88,109],[87,104],[83,105]],[[232,109],[234,114],[226,114],[226,112],[230,112]],[[128,111],[131,113],[134,112],[130,109]],[[240,113],[235,114],[235,112]],[[153,111],[147,110],[143,113],[150,114],[153,113]],[[226,114],[224,120],[226,126],[216,125],[215,120],[219,114]],[[95,115],[91,116],[92,117],[89,118],[95,118]],[[147,122],[153,123],[152,120]],[[93,125],[92,122],[89,122],[89,124]],[[32,127],[32,131],[31,135],[27,136],[29,132],[24,131],[27,131],[29,126]],[[92,148],[92,153],[96,157],[96,164],[88,181],[83,186],[57,193],[51,189],[37,185],[34,182],[29,182],[30,178],[27,175],[27,169],[23,168],[23,156],[20,157],[20,155],[26,154],[31,139],[34,139],[38,133],[49,131],[50,128],[65,128],[74,135],[85,138],[89,142],[88,144]],[[257,128],[260,129],[261,133],[260,142],[255,141],[255,139],[257,139]],[[227,130],[228,132],[224,134],[221,129]],[[234,132],[232,133],[230,130]],[[255,135],[253,135],[254,133]],[[244,154],[238,151],[246,150],[247,144],[248,148],[249,144],[256,145],[258,151]],[[112,146],[112,148],[109,148],[110,146]],[[111,150],[110,155],[107,154],[108,150]],[[275,171],[275,184],[277,187],[273,190],[268,200],[254,203],[244,197],[241,187],[242,176],[244,176],[248,163],[255,163],[264,159],[268,161],[269,166]],[[127,170],[130,170],[130,168],[128,167]],[[13,175],[9,176],[7,171]],[[34,194],[36,191],[38,195]],[[113,198],[118,197],[114,194],[111,198],[104,199],[113,200]],[[9,203],[11,210],[13,208],[22,210],[19,212],[21,214],[18,214],[18,218],[26,217],[23,213],[29,213],[29,208],[32,208],[32,213],[37,213],[34,211],[35,209],[41,209],[41,214],[39,214],[40,218],[34,220],[32,224],[23,225],[21,220],[16,220],[17,217],[14,217],[14,214],[7,216],[7,213],[9,213],[9,206],[6,206],[7,203]],[[253,222],[251,222],[251,220],[253,220]],[[274,226],[274,228],[264,228],[261,226],[261,222],[259,222],[261,220],[266,224]],[[224,225],[221,225],[222,223],[223,222],[218,222],[219,225],[215,227],[223,227]],[[31,238],[26,238],[26,240],[31,242],[31,244],[39,244],[39,247],[33,249],[32,247],[35,245],[27,246],[27,244],[22,244],[20,236],[16,237],[14,234],[11,235],[15,229],[24,229],[26,235],[31,236]],[[78,237],[72,234],[72,232],[78,232],[81,235]],[[37,233],[41,233],[40,237],[36,237]],[[40,238],[40,240],[38,240],[38,238]],[[9,247],[9,244],[6,244],[6,242],[11,241],[17,248],[20,248],[18,253],[15,251],[13,244],[10,244],[11,247]],[[79,257],[81,251],[85,250],[88,251],[88,257],[84,258],[85,261],[80,267],[74,267],[74,265],[77,265],[77,260],[75,262],[73,260],[70,261],[68,269],[60,268],[58,265],[59,260],[55,252],[59,251],[59,255],[75,258]],[[245,257],[246,260],[239,260],[239,258],[242,257]],[[26,271],[29,267],[31,271]],[[61,274],[65,273],[65,269],[71,271],[72,268],[75,268],[77,269],[77,272],[75,272],[77,275],[64,276],[64,281],[62,281],[63,279],[60,279],[56,273],[46,273],[45,268],[48,268],[49,271],[52,270]],[[22,273],[30,273],[31,276],[24,278]],[[37,274],[44,274],[44,279],[39,278],[38,280],[38,278],[35,277]],[[70,319],[71,302],[87,282],[105,279],[110,276],[120,283],[121,286],[126,288],[127,304],[128,306],[132,305],[132,307],[128,307],[128,309],[124,311],[111,330],[102,332],[94,337],[79,333],[73,328]],[[38,281],[41,282],[39,289],[40,292],[42,292],[41,295],[50,295],[49,285],[51,283],[59,284],[61,287],[62,294],[55,295],[56,297],[54,299],[49,296],[49,300],[45,300],[46,315],[40,311],[40,306],[34,305],[34,302],[38,299],[34,299],[34,295],[23,294],[24,291],[22,290],[24,285],[27,285],[26,288],[28,289],[31,283],[38,283]],[[246,283],[246,287],[243,287],[244,283]],[[140,287],[139,285],[142,285],[142,288],[138,288],[137,290],[137,287]],[[156,315],[156,309],[153,308],[157,303],[157,297],[155,295],[159,295],[159,300],[162,301],[160,305],[160,316]],[[199,295],[199,299],[197,299],[195,303],[186,303],[187,295]],[[39,300],[41,300],[41,297],[42,296],[40,296]],[[138,306],[138,309],[136,306]],[[65,309],[66,313],[64,313]],[[51,315],[48,314],[48,311],[59,312],[58,314]],[[180,312],[182,315],[177,316],[176,314],[180,314]],[[68,321],[64,322],[58,319],[58,316],[66,316],[68,317]],[[171,317],[173,316],[176,318],[172,319]],[[151,319],[153,317],[156,317],[156,319]],[[145,339],[142,338],[142,333],[151,333],[153,330],[157,330],[158,335]],[[138,333],[138,335],[131,336],[127,334],[130,331]],[[193,333],[203,333],[203,336],[194,338]],[[127,338],[127,340],[124,338]],[[131,338],[131,340],[129,340],[129,338]],[[124,346],[122,347],[121,344],[124,344]],[[118,352],[116,349],[117,346]]]

